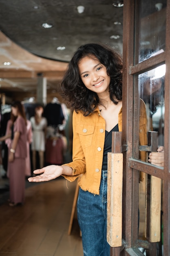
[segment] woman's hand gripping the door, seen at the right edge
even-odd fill
[[[148,162],[150,162],[151,164],[155,164],[157,166],[164,166],[164,147],[160,146],[157,149],[157,152],[151,152],[149,154],[149,159]]]

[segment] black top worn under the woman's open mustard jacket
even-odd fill
[[[102,163],[102,170],[107,170],[107,159],[108,159],[108,152],[112,151],[112,132],[119,132],[118,124],[110,130],[110,132],[105,130],[105,141],[104,141],[104,152],[103,152],[103,163]]]

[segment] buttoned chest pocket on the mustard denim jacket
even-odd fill
[[[92,144],[95,126],[89,124],[77,124],[76,132],[79,135],[79,140],[82,148],[90,147]]]

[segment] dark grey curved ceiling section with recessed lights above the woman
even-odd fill
[[[85,43],[108,44],[122,53],[123,7],[113,2],[117,1],[0,0],[0,29],[27,51],[57,61],[70,61]],[[83,13],[78,13],[79,5],[85,7]],[[44,29],[43,23],[53,27]]]

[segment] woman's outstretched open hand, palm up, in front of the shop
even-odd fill
[[[28,181],[29,182],[42,182],[42,181],[49,181],[53,180],[60,175],[64,173],[64,168],[63,166],[59,165],[49,165],[46,167],[43,167],[42,169],[37,169],[33,171],[35,174],[40,174],[35,177],[29,177]]]

